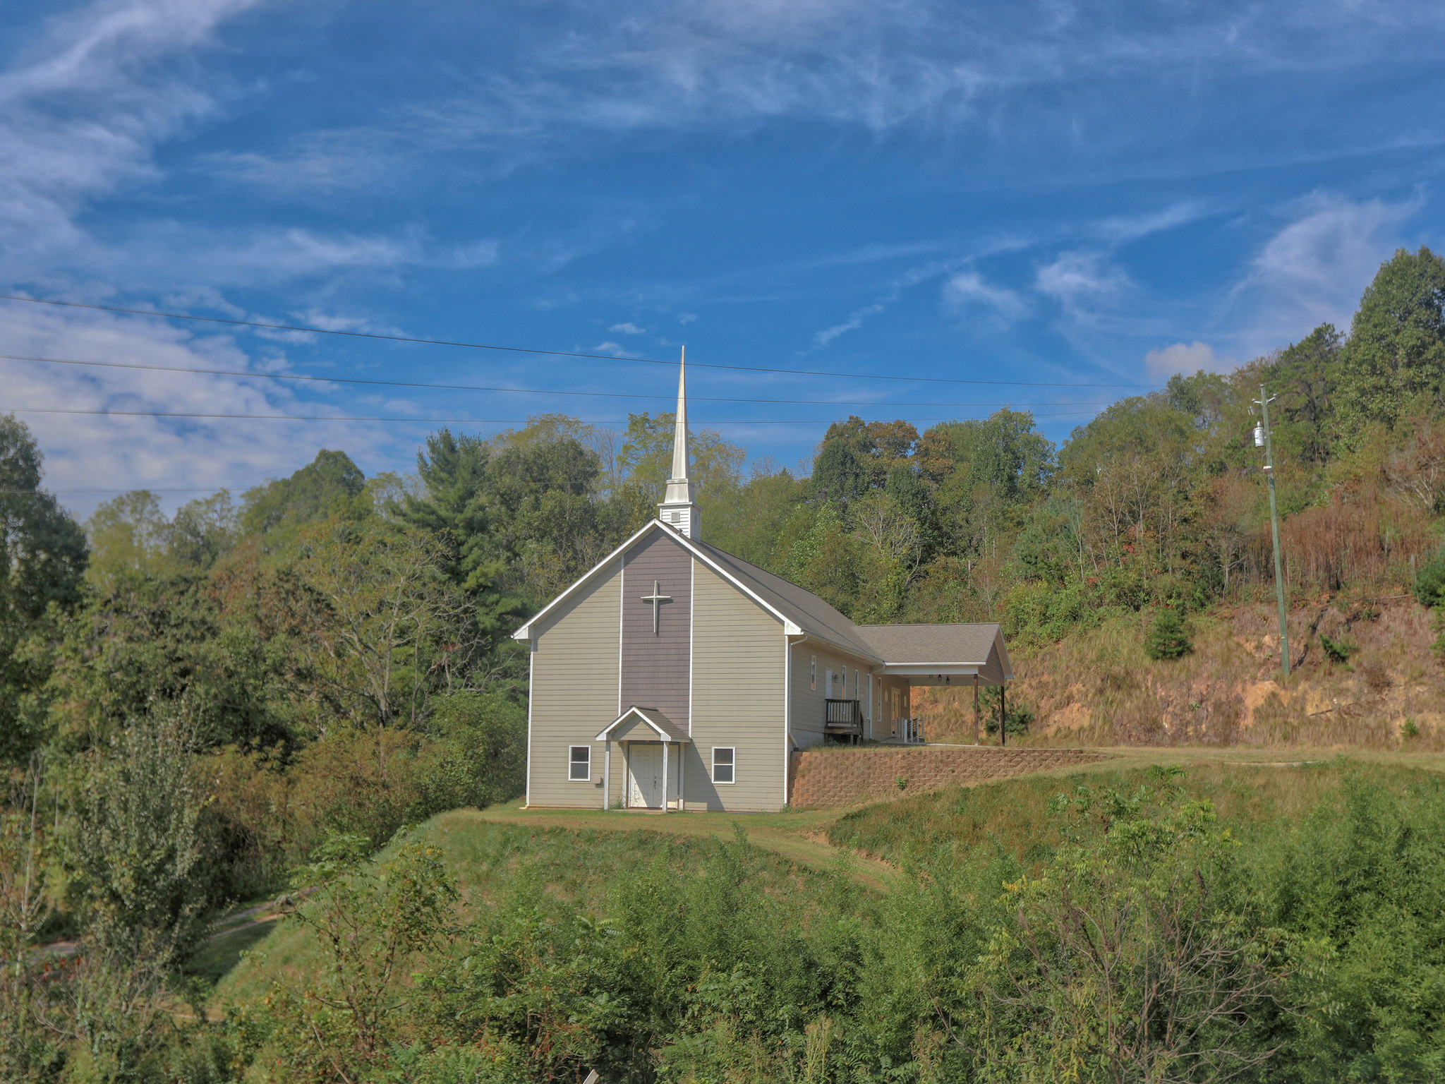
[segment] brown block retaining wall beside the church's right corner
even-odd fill
[[[980,783],[1051,767],[1104,760],[1087,749],[939,749],[861,747],[795,752],[788,776],[788,804],[798,809],[881,802],[954,783]],[[905,786],[899,789],[897,780]]]

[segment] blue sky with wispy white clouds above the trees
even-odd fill
[[[754,457],[827,422],[1033,409],[1345,325],[1442,243],[1439,3],[12,0],[0,292],[614,356],[0,302],[0,409],[621,423],[673,374]],[[647,399],[643,396],[662,396]],[[864,405],[866,403],[866,405]],[[434,428],[22,413],[48,484],[244,487]],[[504,425],[457,426],[494,431]]]

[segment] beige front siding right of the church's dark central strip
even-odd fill
[[[780,809],[786,802],[782,623],[707,565],[692,565],[689,809]],[[714,786],[712,747],[736,749],[737,782]],[[616,770],[616,763],[614,763]]]

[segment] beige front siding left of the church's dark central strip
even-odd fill
[[[527,746],[530,805],[603,805],[604,744],[592,739],[617,718],[620,607],[621,564],[614,562],[535,630]],[[569,746],[592,747],[590,782],[568,780]],[[614,756],[614,780],[617,760]]]

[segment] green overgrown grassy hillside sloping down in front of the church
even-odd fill
[[[1438,1078],[1445,773],[1137,756],[840,814],[444,814],[221,978],[207,1057],[251,1084],[1104,1080],[1090,1036],[1175,968],[1202,993],[1152,1012],[1218,1022],[1136,1036],[1133,1068]]]

